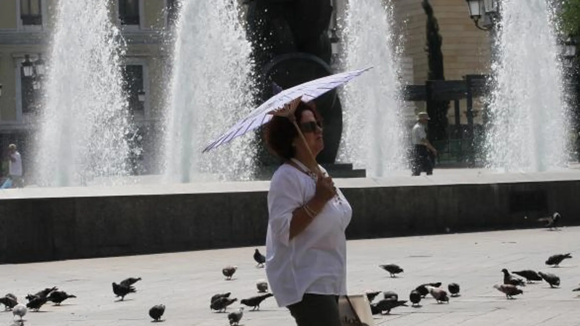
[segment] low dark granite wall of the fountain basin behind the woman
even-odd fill
[[[580,181],[342,189],[349,239],[530,228],[554,210],[580,225]],[[0,263],[263,246],[266,226],[264,189],[0,198]]]

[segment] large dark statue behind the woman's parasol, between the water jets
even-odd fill
[[[253,46],[259,100],[274,95],[273,83],[288,89],[309,80],[332,75],[328,26],[331,0],[247,0],[248,37]],[[336,90],[314,100],[324,119],[321,164],[336,160],[342,135],[342,107]],[[271,157],[259,154],[260,163]]]

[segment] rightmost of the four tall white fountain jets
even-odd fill
[[[553,8],[547,0],[502,2],[488,167],[511,172],[565,165],[569,122]]]

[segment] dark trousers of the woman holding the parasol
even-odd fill
[[[289,305],[298,326],[340,326],[338,296],[305,294],[302,301]]]

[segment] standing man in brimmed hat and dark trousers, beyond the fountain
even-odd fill
[[[425,171],[427,175],[433,174],[433,164],[429,159],[429,151],[437,155],[437,150],[427,140],[427,122],[429,115],[426,112],[420,112],[417,115],[417,123],[411,130],[411,141],[413,143],[412,175],[420,175]]]

